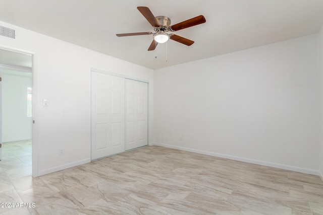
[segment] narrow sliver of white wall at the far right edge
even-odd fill
[[[323,180],[323,26],[319,32],[319,75],[320,75],[320,176]]]

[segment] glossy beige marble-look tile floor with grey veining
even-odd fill
[[[26,205],[0,214],[323,214],[314,175],[151,146],[32,178],[20,144],[4,144],[0,202]]]

